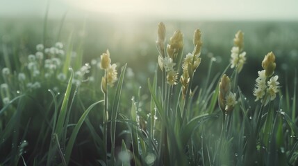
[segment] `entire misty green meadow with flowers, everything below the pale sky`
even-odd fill
[[[297,29],[1,18],[0,165],[297,165]]]

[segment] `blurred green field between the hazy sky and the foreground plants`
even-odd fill
[[[89,17],[82,19],[49,19],[44,41],[44,19],[1,18],[1,53],[6,46],[11,59],[26,59],[34,53],[35,46],[45,42],[45,47],[57,41],[64,44],[69,40],[74,47],[82,44],[83,62],[98,58],[106,49],[119,64],[128,63],[141,85],[157,68],[158,51],[155,41],[157,24],[163,21],[167,26],[167,40],[174,30],[184,35],[184,55],[192,51],[192,35],[195,29],[202,32],[202,62],[197,70],[197,83],[206,75],[211,57],[215,57],[213,75],[229,64],[233,37],[238,30],[245,34],[247,63],[240,75],[240,87],[247,95],[254,89],[257,71],[261,69],[263,57],[273,51],[276,55],[276,73],[281,80],[292,82],[298,62],[298,22],[296,21],[183,21],[161,19],[108,19]],[[75,49],[74,49],[75,50]],[[1,61],[1,66],[4,62]]]

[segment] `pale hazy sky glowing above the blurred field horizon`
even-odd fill
[[[0,0],[0,16],[43,16],[47,0]],[[51,16],[298,21],[297,0],[50,0]]]

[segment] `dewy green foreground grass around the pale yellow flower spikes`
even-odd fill
[[[293,80],[281,77],[279,68],[287,61],[277,53],[274,75],[280,76],[281,87],[276,98],[267,101],[270,95],[265,95],[263,102],[254,101],[256,68],[262,68],[263,55],[270,50],[263,48],[258,53],[262,57],[253,57],[251,32],[245,33],[247,63],[241,72],[229,64],[236,31],[215,49],[217,35],[205,35],[203,28],[200,47],[192,44],[194,29],[185,26],[179,47],[175,45],[181,42],[179,37],[178,41],[168,37],[174,33],[171,28],[167,29],[171,33],[163,32],[165,39],[155,35],[160,45],[150,52],[156,55],[148,61],[154,68],[151,73],[120,56],[117,82],[110,86],[108,68],[98,67],[102,59],[85,57],[99,51],[90,49],[92,44],[84,45],[90,41],[79,39],[76,32],[63,37],[64,21],[65,16],[58,28],[61,36],[52,37],[64,39],[64,44],[49,39],[51,31],[40,37],[44,48],[37,50],[38,43],[26,40],[22,48],[1,43],[0,165],[297,165],[295,72],[288,73]],[[154,46],[155,39],[149,44]],[[273,46],[272,40],[268,42]],[[173,55],[167,52],[167,44],[172,45]],[[186,63],[187,53],[199,47],[200,53]],[[207,48],[215,49],[213,56]],[[102,49],[100,53],[106,50]],[[114,50],[110,59],[117,62],[121,51]],[[176,63],[172,68],[166,66],[166,57]],[[171,71],[177,78],[169,77]],[[183,73],[189,80],[181,83]],[[229,91],[221,88],[224,75],[229,77]],[[220,100],[228,92],[235,94],[237,104]],[[219,102],[232,107],[222,110]]]

